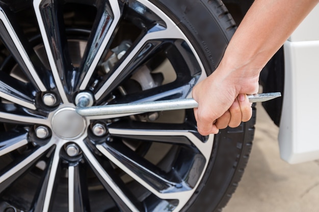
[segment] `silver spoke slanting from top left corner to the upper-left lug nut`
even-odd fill
[[[7,46],[10,47],[10,51],[16,56],[17,62],[20,67],[22,67],[23,71],[26,73],[30,73],[33,78],[33,83],[39,88],[41,92],[46,92],[46,87],[44,86],[41,78],[39,77],[34,65],[31,62],[31,59],[24,49],[23,45],[20,42],[20,38],[17,36],[14,31],[13,26],[10,23],[10,20],[6,16],[6,13],[3,8],[0,8],[0,19],[2,20],[2,24],[0,24],[0,35],[1,37],[6,37]]]

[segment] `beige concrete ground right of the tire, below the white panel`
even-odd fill
[[[258,104],[251,157],[223,212],[319,211],[319,161],[297,165],[282,161],[278,131]]]

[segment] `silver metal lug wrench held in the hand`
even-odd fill
[[[268,100],[281,97],[280,92],[276,93],[264,93],[247,95],[249,102],[265,102]],[[97,115],[114,115],[114,114],[131,114],[131,113],[146,113],[164,110],[178,110],[178,109],[190,109],[198,107],[198,103],[192,99],[174,99],[163,100],[154,102],[139,102],[139,103],[127,103],[127,104],[114,104],[114,105],[102,105],[87,107],[87,100],[81,98],[76,107],[76,112],[82,116],[97,116]]]

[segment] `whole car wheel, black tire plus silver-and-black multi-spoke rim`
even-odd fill
[[[83,99],[189,97],[235,31],[221,1],[17,0],[0,7],[1,211],[226,205],[249,158],[255,111],[215,136],[197,132],[191,109],[75,111]]]

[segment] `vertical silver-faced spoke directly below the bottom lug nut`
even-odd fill
[[[90,211],[86,170],[80,166],[70,165],[68,169],[69,212]]]

